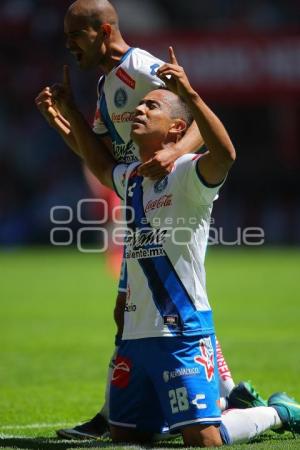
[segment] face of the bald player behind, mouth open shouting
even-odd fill
[[[101,28],[96,31],[84,17],[67,14],[64,32],[66,46],[81,69],[93,69],[101,64],[105,56]]]

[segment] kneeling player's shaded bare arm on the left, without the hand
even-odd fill
[[[68,121],[80,155],[88,168],[102,184],[113,188],[111,173],[116,162],[109,150],[101,145],[80,111],[77,109],[70,110]]]

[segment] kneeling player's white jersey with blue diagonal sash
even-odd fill
[[[115,190],[126,202],[123,339],[214,332],[204,259],[220,186],[201,180],[198,158],[180,157],[157,182],[137,175],[139,163],[114,169]]]

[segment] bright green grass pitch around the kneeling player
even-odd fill
[[[300,400],[300,250],[209,249],[217,334],[236,381]],[[0,254],[0,447],[67,449],[54,430],[102,404],[113,349],[116,281],[101,256],[75,250]],[[161,447],[177,447],[180,442]],[[270,433],[235,449],[300,449]]]

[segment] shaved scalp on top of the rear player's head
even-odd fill
[[[103,23],[119,28],[118,14],[108,0],[76,0],[67,11],[66,16],[77,16],[97,29]]]

